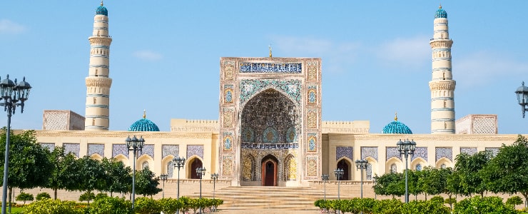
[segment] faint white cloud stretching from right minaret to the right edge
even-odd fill
[[[494,52],[480,51],[453,62],[453,78],[466,86],[482,86],[497,78],[526,76],[528,63]]]

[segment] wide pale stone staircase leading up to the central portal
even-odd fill
[[[198,196],[193,194],[194,197]],[[334,199],[326,195],[327,199]],[[212,193],[202,197],[213,198]],[[310,187],[229,186],[216,190],[215,198],[224,201],[218,210],[319,210],[313,203],[324,192]]]

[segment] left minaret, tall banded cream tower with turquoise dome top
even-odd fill
[[[108,36],[108,10],[101,6],[93,17],[93,34],[90,41],[90,68],[86,77],[86,121],[87,131],[108,130],[110,111],[110,87],[112,79],[108,78],[110,44]]]

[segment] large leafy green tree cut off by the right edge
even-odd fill
[[[519,135],[512,145],[502,145],[497,156],[482,170],[493,193],[521,193],[528,200],[528,139]]]

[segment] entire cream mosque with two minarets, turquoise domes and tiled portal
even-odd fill
[[[516,140],[497,134],[496,115],[468,115],[455,121],[455,85],[447,12],[437,9],[432,49],[431,133],[413,134],[394,121],[382,131],[370,131],[369,121],[322,121],[321,58],[220,58],[218,121],[171,119],[171,131],[159,131],[143,118],[128,131],[109,131],[111,36],[108,10],[96,9],[90,64],[86,77],[86,113],[44,111],[38,142],[50,149],[64,146],[78,157],[116,158],[138,170],[149,167],[169,179],[194,179],[196,168],[218,173],[228,185],[310,186],[342,168],[342,180],[360,180],[355,161],[368,161],[365,180],[405,169],[397,151],[400,139],[417,143],[409,158],[411,169],[454,166],[460,153],[492,151]],[[427,42],[427,41],[424,41]],[[137,160],[125,144],[128,136],[142,136],[145,145]],[[186,158],[181,170],[172,160]],[[205,176],[205,178],[208,178]]]

